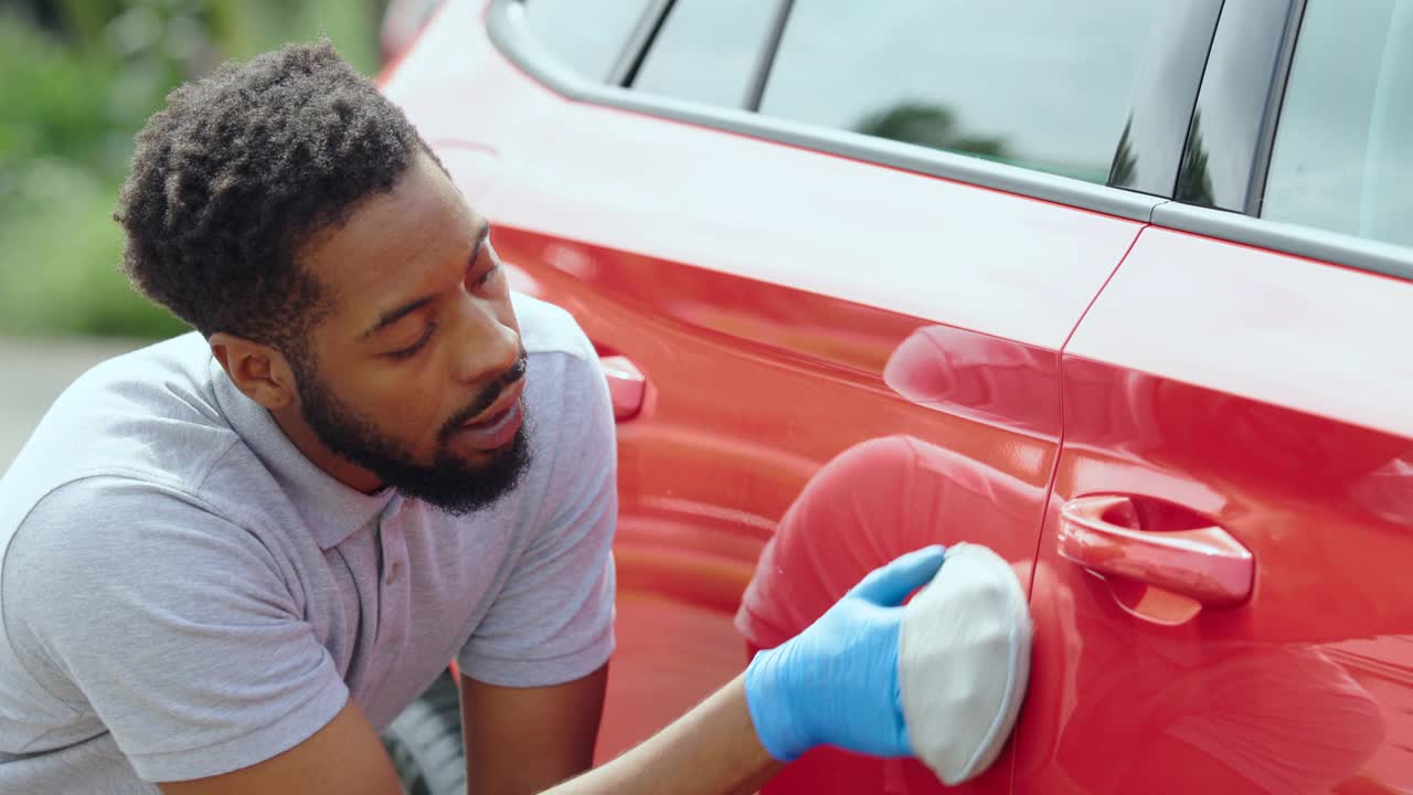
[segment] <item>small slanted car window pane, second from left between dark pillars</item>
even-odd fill
[[[742,108],[779,13],[767,0],[677,0],[633,88]]]

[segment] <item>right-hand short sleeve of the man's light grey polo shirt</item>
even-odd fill
[[[617,447],[596,359],[569,358],[545,512],[458,663],[489,685],[538,687],[586,676],[613,652]]]

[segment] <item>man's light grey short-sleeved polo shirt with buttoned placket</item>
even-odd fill
[[[456,518],[309,463],[198,334],[105,362],[0,480],[0,792],[155,792],[352,699],[386,727],[454,658],[578,679],[613,648],[613,414],[592,345],[514,297],[533,461]]]

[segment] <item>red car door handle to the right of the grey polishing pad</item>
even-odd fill
[[[1135,498],[1081,497],[1060,509],[1060,555],[1099,574],[1137,580],[1208,607],[1251,597],[1251,550],[1215,525],[1143,529]]]

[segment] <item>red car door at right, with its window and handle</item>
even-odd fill
[[[1064,348],[1017,792],[1413,791],[1409,96],[1409,0],[1228,0]]]

